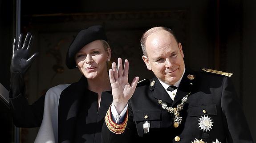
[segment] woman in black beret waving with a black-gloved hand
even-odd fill
[[[32,41],[28,33],[24,43],[20,35],[17,48],[13,42],[9,96],[16,127],[40,127],[35,143],[100,143],[104,116],[113,100],[106,64],[111,50],[103,27],[80,31],[69,47],[66,65],[77,67],[81,79],[57,85],[28,105],[23,75],[38,54],[28,58]]]

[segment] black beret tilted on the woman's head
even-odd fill
[[[75,62],[75,55],[77,52],[85,45],[100,39],[107,41],[104,28],[100,25],[91,26],[87,29],[81,30],[69,46],[66,56],[67,67],[69,69],[74,69],[77,66]]]

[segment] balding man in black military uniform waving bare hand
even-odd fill
[[[253,143],[227,77],[232,73],[185,67],[182,45],[165,27],[146,31],[141,45],[142,59],[155,77],[139,82],[132,95],[126,90],[127,62],[123,71],[121,60],[118,70],[113,64],[113,103],[102,128],[105,143]]]

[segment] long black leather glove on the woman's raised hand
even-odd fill
[[[31,66],[38,53],[32,54],[29,57],[29,49],[32,45],[33,35],[27,34],[24,43],[22,42],[23,35],[20,34],[18,46],[16,47],[16,39],[13,39],[13,50],[11,60],[11,85],[9,97],[15,98],[20,94],[24,94],[24,80],[23,75]]]

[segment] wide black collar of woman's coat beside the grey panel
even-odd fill
[[[58,108],[58,143],[72,143],[79,100],[86,90],[87,79],[83,76],[62,91]]]

